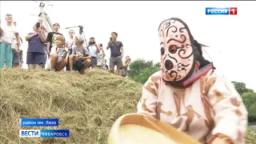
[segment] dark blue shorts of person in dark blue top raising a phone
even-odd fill
[[[43,64],[45,62],[45,59],[45,54],[43,53],[28,52],[26,56],[26,64]]]

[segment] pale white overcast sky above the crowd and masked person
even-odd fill
[[[131,60],[143,58],[160,62],[158,26],[166,18],[181,18],[189,26],[194,38],[207,46],[204,57],[231,81],[245,82],[246,87],[256,90],[254,44],[256,2],[174,2],[174,1],[53,1],[46,2],[46,14],[52,23],[58,22],[60,32],[68,38],[71,26],[83,26],[87,42],[94,37],[106,50],[111,32],[118,33],[123,43],[124,57]],[[33,29],[39,14],[39,3],[33,1],[0,1],[2,24],[5,15],[14,15],[21,37]],[[206,15],[206,7],[237,7],[237,15]],[[78,28],[74,28],[78,34]],[[252,42],[252,43],[251,43]],[[26,64],[27,43],[24,43]],[[210,58],[209,58],[209,55]],[[26,67],[26,66],[25,66]]]

